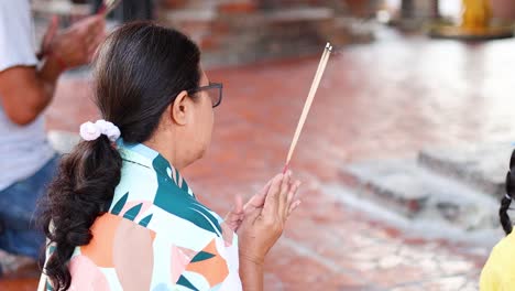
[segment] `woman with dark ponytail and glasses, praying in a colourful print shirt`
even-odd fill
[[[204,155],[222,97],[197,45],[123,25],[97,54],[95,88],[103,119],[80,127],[43,207],[47,289],[262,290],[299,182],[276,175],[226,220],[197,201],[180,171]]]

